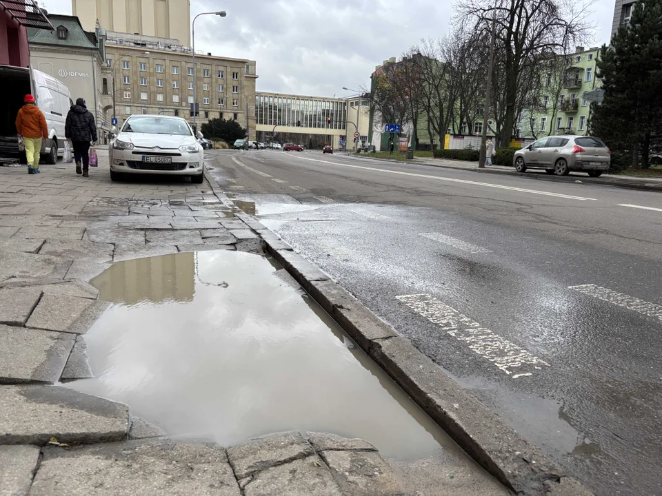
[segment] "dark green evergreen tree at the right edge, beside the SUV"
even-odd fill
[[[662,0],[635,4],[597,67],[605,94],[592,106],[592,134],[631,156],[633,167],[650,167],[662,147]]]

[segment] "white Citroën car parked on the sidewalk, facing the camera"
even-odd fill
[[[125,174],[190,176],[201,184],[203,148],[181,117],[132,115],[110,143],[110,180]]]

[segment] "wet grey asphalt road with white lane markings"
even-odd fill
[[[208,163],[596,493],[662,494],[661,194],[319,152]]]

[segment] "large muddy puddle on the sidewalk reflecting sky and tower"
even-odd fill
[[[361,437],[392,459],[472,466],[277,269],[231,251],[115,263],[92,280],[112,302],[85,335],[95,378],[66,386],[223,446],[297,429]]]

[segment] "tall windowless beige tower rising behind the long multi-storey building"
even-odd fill
[[[191,45],[190,0],[72,0],[83,28],[178,39]]]

